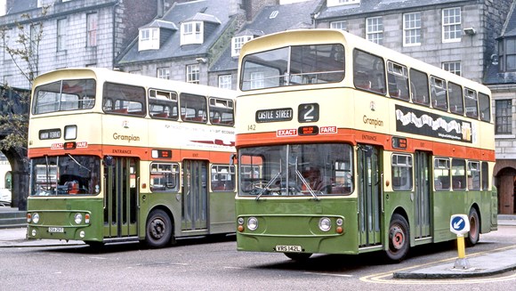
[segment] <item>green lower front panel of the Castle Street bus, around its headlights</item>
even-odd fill
[[[238,250],[284,252],[290,249],[314,254],[358,254],[356,209],[353,199],[240,199],[237,201],[238,217],[244,219],[245,226],[249,218],[254,217],[258,227],[238,231]],[[318,226],[323,217],[330,221],[327,231]],[[338,219],[343,220],[342,232],[338,231]]]

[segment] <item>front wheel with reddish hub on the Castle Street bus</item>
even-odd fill
[[[389,248],[385,252],[391,262],[401,262],[408,254],[410,237],[408,223],[400,214],[393,214],[389,225]]]

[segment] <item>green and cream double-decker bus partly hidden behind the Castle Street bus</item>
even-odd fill
[[[108,69],[37,77],[28,238],[164,247],[234,233],[235,96]]]

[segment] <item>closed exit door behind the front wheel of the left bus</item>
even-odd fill
[[[208,217],[208,163],[184,160],[182,163],[181,230],[206,230]]]

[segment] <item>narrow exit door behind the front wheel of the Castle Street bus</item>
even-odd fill
[[[429,154],[423,151],[416,151],[415,163],[415,238],[430,237],[430,171]]]

